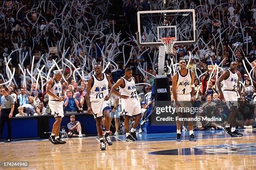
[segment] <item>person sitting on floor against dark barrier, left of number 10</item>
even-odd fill
[[[82,134],[82,128],[81,123],[76,120],[75,115],[70,116],[70,122],[67,124],[67,127],[69,129],[68,137],[85,137],[84,134]]]

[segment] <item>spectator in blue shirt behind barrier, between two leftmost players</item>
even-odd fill
[[[79,107],[79,102],[77,99],[73,97],[73,92],[71,90],[66,90],[66,94],[67,96],[64,100],[66,113],[77,113],[77,109],[82,110],[82,108]]]

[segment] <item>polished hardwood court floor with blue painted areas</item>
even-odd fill
[[[64,139],[65,145],[48,140],[2,142],[0,161],[29,161],[29,168],[22,169],[35,170],[255,170],[256,129],[241,132],[243,137],[230,138],[221,130],[194,131],[197,142],[188,141],[188,132],[182,142],[174,140],[175,133],[138,135],[133,143],[118,136],[106,151],[100,151],[95,137]]]

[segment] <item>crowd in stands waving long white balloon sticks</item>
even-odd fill
[[[180,6],[176,4],[174,7],[182,8],[184,4],[196,9],[199,20],[197,25],[200,25],[199,40],[196,45],[176,45],[174,55],[177,61],[184,59],[188,62],[189,52],[192,52],[188,67],[194,72],[197,71],[195,98],[204,103],[204,107],[218,105],[220,96],[216,75],[209,80],[210,70],[207,65],[220,64],[222,69],[219,70],[219,77],[231,61],[236,61],[242,89],[237,123],[239,126],[253,125],[256,111],[247,104],[256,101],[256,67],[251,72],[252,84],[246,68],[250,72],[253,68],[248,62],[253,63],[256,60],[256,4],[251,0],[183,0]],[[110,75],[112,83],[124,75],[125,67],[131,67],[137,83],[146,82],[151,85],[143,85],[139,93],[151,92],[156,76],[152,61],[159,47],[139,47],[135,39],[126,32],[130,31],[132,36],[136,36],[137,21],[134,18],[137,11],[150,10],[151,7],[156,10],[161,5],[158,0],[123,0],[118,3],[114,0],[110,0],[110,3],[108,0],[0,2],[0,86],[8,85],[9,93],[14,98],[13,117],[51,113],[45,85],[49,78],[48,72],[52,77],[54,70],[57,70],[55,66],[51,69],[54,61],[63,69],[67,80],[62,82],[66,96],[63,102],[66,113],[87,111],[85,89],[96,62],[101,62],[105,67],[111,60],[105,73]],[[223,34],[218,37],[220,33]],[[248,37],[249,42],[244,42]],[[170,57],[172,56],[168,57],[169,65]],[[66,59],[74,67],[81,69],[76,70]],[[44,65],[36,84],[38,70]],[[3,85],[10,79],[14,68],[13,80],[10,84]],[[74,72],[79,74],[73,75]],[[143,74],[145,72],[150,74]],[[201,73],[205,74],[200,76]],[[207,86],[208,81],[210,83]],[[172,77],[169,82],[172,85]],[[172,93],[171,86],[170,90]],[[148,107],[147,104],[143,103],[142,108]],[[222,114],[223,108],[216,108],[212,114],[227,117]],[[205,110],[197,114],[205,116],[206,112]],[[223,123],[197,122],[196,126],[220,128]]]

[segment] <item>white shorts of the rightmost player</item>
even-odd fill
[[[236,106],[238,108],[238,92],[233,90],[223,90],[223,96],[226,100],[228,109],[232,106]]]

